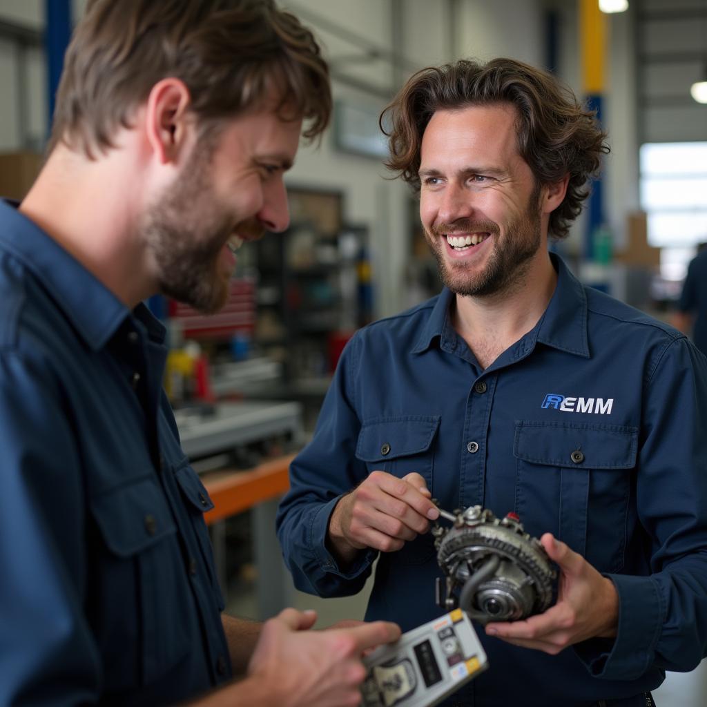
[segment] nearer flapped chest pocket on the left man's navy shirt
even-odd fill
[[[187,655],[179,620],[188,585],[177,529],[162,489],[149,477],[95,496],[90,513],[101,542],[91,575],[93,617],[107,691],[156,682]]]

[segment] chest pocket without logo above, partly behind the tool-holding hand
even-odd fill
[[[434,441],[439,416],[396,416],[368,420],[361,426],[356,458],[366,464],[368,473],[382,471],[402,479],[411,472],[420,474],[434,496]],[[381,561],[397,564],[423,564],[434,554],[431,533],[418,535],[397,552],[383,553]]]

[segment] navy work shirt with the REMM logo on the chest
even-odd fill
[[[279,510],[295,583],[322,596],[354,594],[370,574],[374,551],[341,568],[325,538],[341,494],[375,469],[418,472],[447,510],[515,511],[613,580],[615,640],[553,657],[479,631],[490,669],[452,703],[633,696],[696,666],[707,643],[707,359],[553,258],[544,315],[485,370],[452,326],[446,290],[358,332]],[[440,575],[429,533],[380,554],[366,618],[409,630],[437,617]]]

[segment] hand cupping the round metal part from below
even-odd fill
[[[540,542],[560,568],[557,603],[525,621],[486,624],[486,633],[550,655],[587,638],[616,636],[619,596],[612,580],[550,533]]]

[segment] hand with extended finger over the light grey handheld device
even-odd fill
[[[400,629],[387,621],[352,628],[307,631],[315,612],[285,609],[267,621],[255,648],[249,676],[270,689],[272,704],[283,707],[346,707],[361,702],[366,677],[361,655],[392,643]]]

